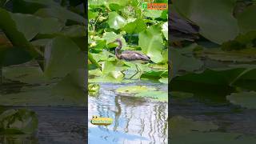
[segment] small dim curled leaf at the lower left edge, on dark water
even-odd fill
[[[32,134],[38,129],[37,115],[30,110],[6,110],[0,114],[0,134]]]

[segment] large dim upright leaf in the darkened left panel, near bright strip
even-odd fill
[[[57,37],[46,46],[45,60],[47,77],[64,77],[70,71],[85,66],[85,56],[69,38]]]

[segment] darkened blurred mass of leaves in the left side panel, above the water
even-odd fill
[[[5,1],[0,7],[4,106],[85,106],[86,19],[82,1]]]

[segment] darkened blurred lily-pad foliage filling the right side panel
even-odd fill
[[[250,128],[240,128],[240,125],[250,126],[254,118],[237,123],[227,118],[236,114],[241,114],[236,117],[239,119],[244,119],[246,113],[254,115],[250,109],[256,106],[255,6],[252,0],[172,1],[172,12],[186,19],[190,26],[198,26],[195,29],[198,33],[174,27],[181,30],[182,39],[170,40],[170,95],[174,106],[183,106],[178,107],[181,114],[172,115],[169,120],[170,142],[256,142],[254,131],[247,135]],[[187,110],[188,105],[198,110]],[[226,114],[222,113],[223,105],[230,108]],[[214,111],[212,106],[218,110]],[[178,116],[182,115],[182,108],[184,117]],[[207,122],[209,119],[213,122]]]

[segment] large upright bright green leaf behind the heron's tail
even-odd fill
[[[151,61],[158,63],[162,61],[162,34],[159,26],[150,26],[146,31],[138,34],[138,46],[142,52],[150,56]]]

